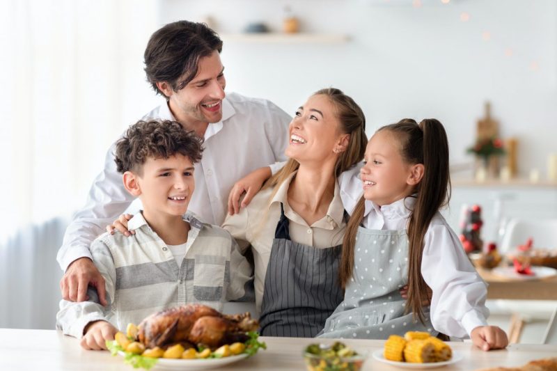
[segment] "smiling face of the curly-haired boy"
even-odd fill
[[[149,157],[143,174],[134,175],[137,193],[148,218],[182,216],[194,193],[194,164],[184,155],[168,159]]]

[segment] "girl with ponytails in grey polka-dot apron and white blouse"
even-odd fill
[[[429,331],[469,335],[483,350],[506,347],[505,332],[487,326],[485,283],[439,214],[450,183],[443,125],[405,119],[382,127],[367,145],[360,177],[363,197],[348,223],[340,262],[344,301],[320,336]],[[399,289],[406,284],[405,301]],[[422,305],[427,287],[433,292],[430,310]]]

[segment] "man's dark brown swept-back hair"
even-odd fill
[[[157,82],[166,81],[178,91],[194,79],[199,58],[222,52],[222,40],[204,23],[178,21],[151,35],[145,49],[145,72],[155,92],[164,95]],[[183,77],[182,77],[183,76]]]

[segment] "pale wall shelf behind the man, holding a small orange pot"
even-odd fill
[[[330,33],[219,33],[225,42],[273,44],[343,44],[347,35]]]

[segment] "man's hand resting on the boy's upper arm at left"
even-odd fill
[[[89,258],[74,260],[60,281],[62,298],[68,301],[86,301],[87,287],[93,286],[97,289],[102,306],[107,305],[106,287],[104,278]]]

